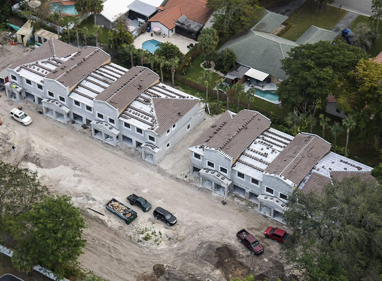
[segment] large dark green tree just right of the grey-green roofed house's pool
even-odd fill
[[[341,41],[331,44],[320,41],[292,48],[288,57],[281,60],[288,76],[277,89],[279,100],[288,110],[315,116],[324,108],[327,95],[335,88],[336,81],[353,70],[366,52]]]

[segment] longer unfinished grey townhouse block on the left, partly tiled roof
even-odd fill
[[[146,67],[116,65],[96,47],[80,50],[51,39],[7,73],[8,98],[39,104],[44,115],[65,124],[90,127],[94,138],[138,149],[152,164],[205,116],[199,98],[159,83]]]

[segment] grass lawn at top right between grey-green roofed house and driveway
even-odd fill
[[[293,26],[282,35],[282,38],[296,41],[312,25],[331,30],[345,14],[345,10],[338,11],[338,8],[329,5],[325,5],[321,11],[313,0],[307,0],[286,20]]]

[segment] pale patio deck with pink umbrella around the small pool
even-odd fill
[[[53,1],[58,1],[58,0],[53,0]],[[134,40],[134,46],[138,49],[141,49],[142,48],[142,44],[148,40],[157,40],[159,42],[169,42],[169,43],[172,43],[174,45],[176,45],[180,51],[185,54],[189,51],[189,49],[187,48],[188,45],[190,45],[190,43],[192,44],[196,44],[198,43],[197,41],[195,40],[192,40],[190,38],[187,38],[187,37],[184,37],[184,36],[181,36],[177,33],[171,35],[171,37],[163,37],[163,36],[157,36],[157,35],[153,35],[151,36],[151,32],[145,32],[143,34],[141,34],[140,36],[138,36],[135,40]]]

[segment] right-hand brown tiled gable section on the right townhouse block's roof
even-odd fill
[[[282,175],[296,185],[330,151],[330,143],[316,135],[298,134],[271,162],[267,173]]]

